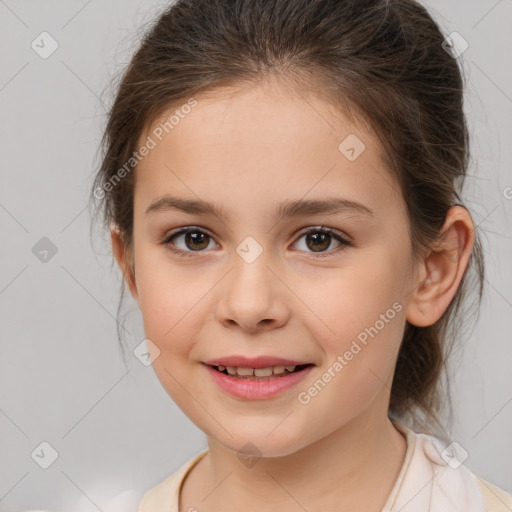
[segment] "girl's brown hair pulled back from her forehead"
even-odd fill
[[[178,0],[144,36],[109,112],[92,192],[102,200],[105,223],[118,226],[130,252],[129,171],[136,166],[132,157],[141,135],[158,116],[201,92],[256,85],[273,76],[333,102],[376,134],[400,183],[414,255],[420,257],[439,237],[449,208],[461,205],[469,159],[463,75],[444,39],[414,0]],[[463,298],[473,286],[470,269],[481,300],[478,233],[461,286],[442,318],[429,327],[406,325],[391,415],[414,412],[413,421],[423,417],[424,425],[432,419],[439,424],[443,398],[449,402],[443,370],[462,325]]]

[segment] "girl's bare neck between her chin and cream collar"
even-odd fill
[[[187,502],[184,485],[183,504],[205,512],[260,511],[269,503],[282,512],[301,506],[379,512],[402,467],[406,440],[387,414],[372,416],[370,411],[292,454],[263,457],[251,467],[208,437],[209,452],[194,468],[193,499]]]

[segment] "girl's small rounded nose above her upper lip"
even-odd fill
[[[264,255],[265,251],[248,263],[234,254],[233,268],[222,280],[217,296],[216,318],[224,327],[256,333],[288,322],[290,292]]]

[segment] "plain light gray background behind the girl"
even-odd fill
[[[106,234],[96,230],[92,246],[89,237],[106,87],[164,5],[0,1],[2,511],[134,510],[143,491],[207,446],[132,355],[144,333],[129,296],[128,371],[123,365],[120,275]],[[461,57],[473,138],[466,201],[488,270],[481,317],[455,360],[452,439],[469,453],[468,467],[512,492],[512,2],[426,5],[445,34],[469,43]],[[47,59],[31,47],[43,31],[59,45]],[[32,250],[43,237],[57,249],[46,263]],[[31,457],[49,456],[43,441],[59,455],[48,469]]]

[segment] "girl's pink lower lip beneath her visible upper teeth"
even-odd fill
[[[313,365],[304,368],[298,372],[287,373],[283,377],[274,377],[271,379],[238,379],[219,372],[213,366],[205,365],[218,386],[229,394],[246,400],[263,400],[292,388],[313,369]]]

